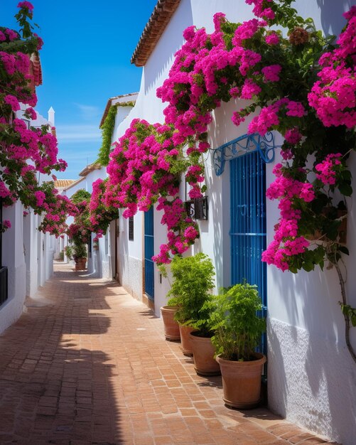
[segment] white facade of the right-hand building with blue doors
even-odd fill
[[[238,3],[238,6],[237,6]],[[354,0],[306,2],[293,5],[303,17],[311,16],[316,28],[325,34],[338,34],[345,19],[342,13],[355,4]],[[223,12],[230,21],[241,22],[252,18],[252,8],[244,1],[182,0],[143,68],[141,87],[136,105],[129,117],[115,131],[118,139],[132,119],[146,119],[151,124],[163,122],[166,104],[156,97],[156,89],[168,77],[173,55],[183,44],[183,30],[194,24],[213,31],[212,16]],[[209,137],[212,149],[247,133],[247,122],[239,128],[231,122],[237,108],[234,101],[215,110]],[[278,137],[278,135],[277,135]],[[278,141],[277,141],[278,144]],[[280,161],[266,165],[266,186],[274,180],[272,169]],[[209,199],[209,218],[200,221],[200,239],[188,253],[205,252],[215,265],[217,288],[231,284],[230,277],[230,171],[217,177],[212,168],[211,152],[206,161],[206,183]],[[350,157],[350,169],[356,171],[356,156]],[[354,175],[356,176],[356,175]],[[356,189],[356,180],[353,183]],[[180,197],[185,200],[181,188]],[[353,205],[352,205],[353,204]],[[347,218],[346,259],[347,296],[356,306],[356,276],[352,273],[356,261],[356,210],[349,200]],[[279,218],[277,203],[267,201],[267,242],[273,238],[274,225]],[[155,254],[166,242],[166,227],[161,226],[161,214],[154,216]],[[141,299],[144,262],[143,214],[134,218],[134,241],[127,236],[128,222],[120,219],[118,255],[119,276],[122,284]],[[319,269],[315,272],[280,272],[268,267],[268,387],[269,407],[301,427],[305,427],[344,445],[355,444],[356,437],[356,368],[345,345],[345,323],[338,301],[340,287],[335,271]],[[155,272],[154,310],[166,304],[169,282]],[[356,328],[351,341],[356,348]]]

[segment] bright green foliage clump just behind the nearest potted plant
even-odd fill
[[[212,261],[203,253],[193,257],[176,255],[171,262],[173,283],[167,296],[169,306],[178,306],[176,320],[205,333],[210,331],[210,306],[207,301],[214,287],[215,270]]]

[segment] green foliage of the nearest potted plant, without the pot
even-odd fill
[[[215,297],[211,313],[216,353],[226,360],[251,360],[266,330],[266,321],[257,315],[262,303],[257,286],[235,284]]]

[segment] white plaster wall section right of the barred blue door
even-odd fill
[[[279,156],[276,162],[279,161]],[[356,156],[349,159],[356,171]],[[272,179],[267,168],[267,183]],[[352,188],[355,190],[356,179]],[[356,209],[347,199],[348,304],[356,306]],[[277,203],[267,201],[267,242],[273,238],[278,218]],[[323,434],[343,445],[356,436],[356,372],[345,344],[345,322],[340,310],[338,274],[335,269],[315,268],[298,274],[267,267],[268,387],[269,406],[302,427]],[[356,332],[350,341],[356,348]]]

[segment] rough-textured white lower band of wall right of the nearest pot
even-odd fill
[[[303,428],[355,444],[355,363],[342,342],[276,318],[269,318],[267,338],[269,407]]]

